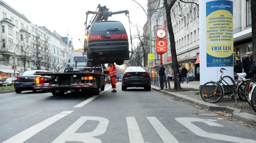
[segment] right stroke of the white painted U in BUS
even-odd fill
[[[149,122],[155,128],[164,143],[179,143],[176,138],[165,128],[163,124],[155,117],[147,117]]]

